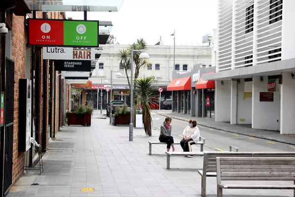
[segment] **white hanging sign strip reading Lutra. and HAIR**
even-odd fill
[[[44,60],[95,60],[95,48],[43,47]]]

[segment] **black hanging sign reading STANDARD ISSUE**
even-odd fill
[[[62,71],[91,71],[91,61],[88,60],[56,60],[56,70]]]

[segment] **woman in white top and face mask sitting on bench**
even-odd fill
[[[188,126],[183,130],[183,139],[180,145],[184,152],[191,152],[191,145],[198,143],[200,138],[200,130],[197,127],[197,121],[190,120]],[[192,156],[188,156],[192,157]]]

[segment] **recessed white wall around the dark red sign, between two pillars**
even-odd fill
[[[267,76],[264,76],[263,82],[259,76],[253,76],[252,128],[279,131],[277,120],[280,120],[280,92],[274,93],[273,102],[260,102],[260,92],[267,92]]]

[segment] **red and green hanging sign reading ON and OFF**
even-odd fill
[[[28,46],[98,47],[98,21],[28,19]]]

